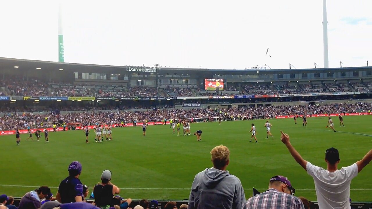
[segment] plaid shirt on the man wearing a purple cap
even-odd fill
[[[304,209],[298,197],[269,189],[247,200],[243,209]]]

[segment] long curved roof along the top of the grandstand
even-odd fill
[[[79,64],[79,63],[68,63],[68,62],[51,62],[51,61],[39,61],[39,60],[23,60],[15,58],[2,58],[0,57],[0,71],[12,70],[15,66],[18,66],[20,70],[29,70],[41,68],[42,70],[59,70],[63,69],[69,72],[80,72],[80,73],[124,73],[127,66],[115,66],[115,65],[95,65],[95,64]],[[149,68],[138,66],[138,68]],[[174,74],[174,73],[200,73],[209,74],[295,74],[295,73],[327,73],[327,72],[340,72],[340,71],[369,71],[372,67],[343,67],[343,68],[306,68],[306,69],[242,69],[242,70],[231,70],[231,69],[207,69],[207,68],[170,68],[162,67],[159,74]],[[125,71],[126,72],[126,71]],[[129,73],[129,72],[127,72]],[[133,72],[130,72],[133,73]]]

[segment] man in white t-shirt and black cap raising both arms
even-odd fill
[[[327,163],[327,170],[325,170],[322,167],[315,166],[305,161],[289,142],[288,134],[282,132],[280,139],[286,145],[296,162],[314,179],[315,191],[317,193],[320,209],[351,209],[349,203],[350,182],[369,162],[371,162],[372,149],[362,160],[338,170],[337,165],[340,163],[339,151],[333,147],[329,148],[325,152],[325,162]]]

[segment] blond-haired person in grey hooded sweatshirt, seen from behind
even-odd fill
[[[229,149],[219,145],[211,155],[213,167],[196,174],[187,209],[241,209],[246,197],[238,177],[226,170]]]

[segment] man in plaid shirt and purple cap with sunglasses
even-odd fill
[[[302,201],[293,196],[295,189],[284,176],[274,176],[269,181],[269,189],[247,200],[245,209],[304,209]],[[269,201],[268,201],[269,200]]]

